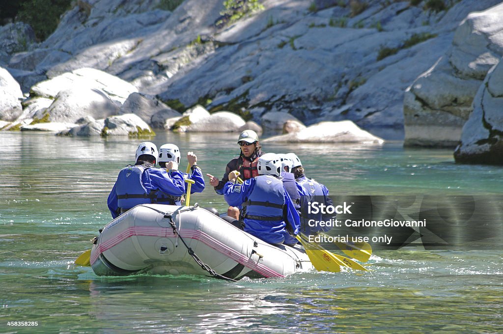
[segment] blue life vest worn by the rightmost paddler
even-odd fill
[[[315,200],[315,196],[317,197],[317,200],[324,199],[325,194],[323,193],[323,189],[321,188],[320,184],[317,183],[314,180],[310,180],[308,178],[300,177],[297,179],[297,182],[299,185],[304,188],[304,193],[305,196],[302,196],[301,201],[300,201],[300,230],[305,233],[305,234],[312,234],[319,232],[322,228],[320,226],[309,226],[308,221],[310,219],[314,219],[314,221],[321,221],[323,220],[323,216],[320,212],[314,214],[314,213],[308,213],[308,203],[312,202]]]

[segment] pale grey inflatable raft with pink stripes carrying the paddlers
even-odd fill
[[[135,273],[285,277],[311,270],[300,245],[273,246],[200,208],[138,205],[108,223],[95,238],[97,275]]]

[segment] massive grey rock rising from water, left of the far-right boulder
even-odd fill
[[[405,145],[456,146],[487,71],[503,56],[503,4],[472,13],[449,50],[407,88]]]

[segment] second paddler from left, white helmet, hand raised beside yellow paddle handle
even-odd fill
[[[175,144],[164,144],[159,147],[159,166],[161,168],[166,168],[166,163],[174,161],[177,165],[180,164],[180,149]],[[205,187],[204,177],[201,169],[197,165],[197,156],[194,152],[187,152],[187,160],[191,166],[191,174],[182,173],[184,180],[190,179],[194,181],[191,187],[191,194],[202,193]],[[169,171],[169,169],[168,169]],[[188,184],[185,183],[185,194],[187,193]],[[163,192],[159,192],[156,202],[159,204],[169,204],[169,205],[182,205],[184,201],[183,197],[180,196],[170,196]]]

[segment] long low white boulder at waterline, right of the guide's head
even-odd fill
[[[263,142],[382,144],[384,140],[362,130],[352,121],[321,122],[299,132],[274,136]]]

